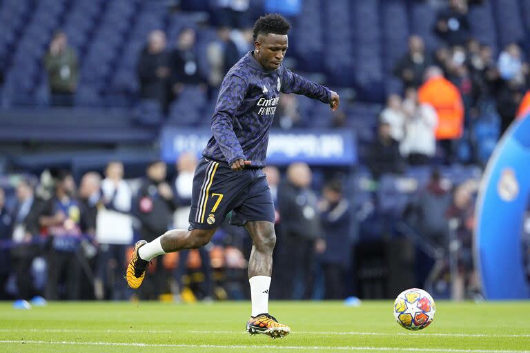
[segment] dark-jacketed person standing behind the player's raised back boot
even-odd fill
[[[166,183],[166,172],[166,163],[163,161],[149,163],[146,179],[141,183],[138,191],[137,216],[140,221],[141,239],[146,239],[146,241],[153,241],[170,228],[175,202],[173,190]],[[142,299],[158,299],[159,294],[166,289],[163,258],[158,259],[151,261],[155,273],[146,277],[144,285],[141,286]]]

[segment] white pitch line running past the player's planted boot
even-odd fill
[[[56,333],[149,333],[170,334],[186,332],[192,334],[246,334],[246,331],[200,331],[200,330],[80,330],[80,329],[0,329],[0,332],[56,332]],[[442,336],[442,337],[491,337],[491,338],[530,338],[530,334],[444,334],[428,332],[317,332],[317,331],[295,331],[297,334],[327,334],[332,336]]]

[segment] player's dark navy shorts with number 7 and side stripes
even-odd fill
[[[190,230],[217,228],[228,212],[230,223],[274,223],[274,203],[262,168],[234,172],[228,163],[203,158],[193,177]]]

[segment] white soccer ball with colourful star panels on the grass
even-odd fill
[[[394,301],[394,317],[407,330],[422,330],[434,319],[436,307],[431,294],[418,288],[404,290]]]

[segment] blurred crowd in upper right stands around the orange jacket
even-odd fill
[[[433,30],[443,44],[433,52],[420,35],[409,38],[394,67],[403,95],[389,94],[380,114],[375,173],[399,172],[400,157],[411,165],[433,163],[437,145],[444,163],[484,165],[500,135],[527,111],[530,66],[520,44],[509,43],[495,59],[490,46],[471,36],[468,12],[467,0],[450,0],[438,13]]]

